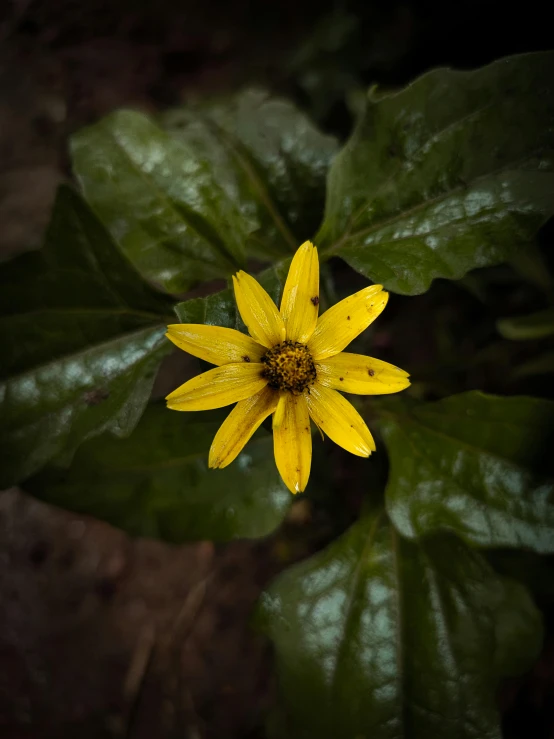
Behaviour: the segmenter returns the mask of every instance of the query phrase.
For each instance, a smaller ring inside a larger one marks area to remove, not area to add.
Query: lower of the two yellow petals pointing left
[[[170,393],[167,407],[174,411],[207,411],[244,400],[267,385],[263,370],[263,364],[253,362],[215,367]]]

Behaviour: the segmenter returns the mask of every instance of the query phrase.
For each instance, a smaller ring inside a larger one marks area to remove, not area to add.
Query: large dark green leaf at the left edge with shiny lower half
[[[0,270],[0,487],[94,434],[130,433],[170,308],[60,188],[44,248]]]

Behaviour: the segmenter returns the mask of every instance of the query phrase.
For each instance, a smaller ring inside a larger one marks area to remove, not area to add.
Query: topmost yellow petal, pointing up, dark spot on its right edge
[[[305,344],[314,332],[318,314],[319,259],[315,246],[306,241],[293,257],[281,299],[287,339]]]

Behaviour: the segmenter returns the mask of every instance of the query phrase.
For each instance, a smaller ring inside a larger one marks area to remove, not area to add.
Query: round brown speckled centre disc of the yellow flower
[[[317,377],[308,347],[297,341],[277,344],[264,354],[261,361],[265,364],[262,376],[275,390],[288,390],[293,395],[300,395]]]

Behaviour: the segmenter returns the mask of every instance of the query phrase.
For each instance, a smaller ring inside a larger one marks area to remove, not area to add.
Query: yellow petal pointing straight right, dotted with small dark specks
[[[398,393],[410,384],[399,367],[363,354],[340,352],[316,362],[317,380],[325,387],[357,395]]]

